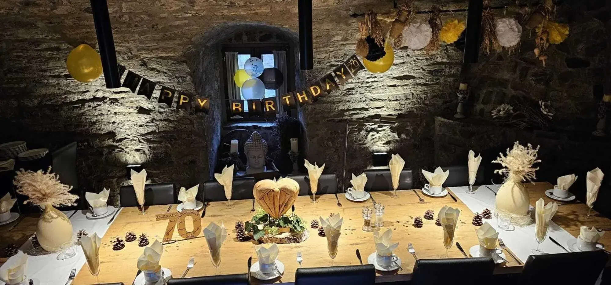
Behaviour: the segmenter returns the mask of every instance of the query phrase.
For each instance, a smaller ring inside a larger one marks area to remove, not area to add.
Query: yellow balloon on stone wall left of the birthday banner
[[[102,74],[100,54],[86,44],[79,45],[70,51],[66,65],[68,66],[68,73],[75,80],[84,83],[97,80]]]

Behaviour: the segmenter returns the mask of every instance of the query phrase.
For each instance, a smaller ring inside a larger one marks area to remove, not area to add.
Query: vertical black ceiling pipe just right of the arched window
[[[312,69],[314,52],[312,47],[312,0],[298,0],[299,4],[299,58],[301,69]]]

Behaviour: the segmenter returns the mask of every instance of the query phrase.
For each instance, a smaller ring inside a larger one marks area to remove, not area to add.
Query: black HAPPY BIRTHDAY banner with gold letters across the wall
[[[364,65],[353,54],[347,61],[342,65],[336,67],[331,73],[323,76],[319,80],[313,83],[307,84],[304,89],[293,91],[280,96],[280,103],[285,108],[297,108],[297,106],[311,104],[318,100],[318,97],[323,97],[326,94],[330,94],[331,91],[338,90],[338,85],[343,85],[346,81],[354,78],[360,70],[365,69]],[[119,64],[119,77],[123,76],[126,68]],[[138,87],[140,86],[140,87]],[[127,87],[131,92],[137,95],[144,95],[150,100],[153,97],[153,92],[157,83],[148,80],[147,78],[138,75],[137,73],[127,70],[125,80],[121,87]],[[177,91],[167,86],[161,85],[161,91],[159,91],[158,103],[165,103],[167,106],[172,108],[172,103],[176,100],[177,109],[185,109],[187,112],[191,111],[192,106],[195,106],[196,112],[204,112],[208,114],[210,111],[210,100],[217,98],[210,98],[207,96],[191,95],[187,92]],[[246,100],[248,104],[248,112],[244,112],[245,100],[232,100],[232,99],[221,99],[229,101],[227,104],[228,116],[233,117],[239,116],[271,116],[278,113],[278,106],[276,97],[268,97],[260,100]]]

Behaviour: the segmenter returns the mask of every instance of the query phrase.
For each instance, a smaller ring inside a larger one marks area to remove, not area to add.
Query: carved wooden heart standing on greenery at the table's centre
[[[299,184],[290,178],[278,181],[261,180],[255,184],[252,194],[270,217],[277,219],[291,209],[299,194]]]

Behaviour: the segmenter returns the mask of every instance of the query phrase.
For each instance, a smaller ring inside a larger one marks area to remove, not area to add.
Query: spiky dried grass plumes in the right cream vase
[[[539,168],[533,167],[535,163],[541,162],[537,159],[537,152],[539,146],[536,149],[530,144],[522,146],[518,141],[513,144],[513,149],[507,149],[507,155],[499,154],[496,160],[492,163],[500,163],[503,166],[502,169],[497,169],[494,172],[509,176],[510,174],[520,179],[521,181],[528,180],[530,182],[536,178],[535,171]]]

